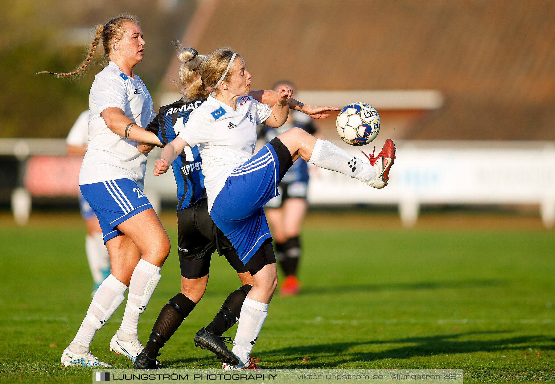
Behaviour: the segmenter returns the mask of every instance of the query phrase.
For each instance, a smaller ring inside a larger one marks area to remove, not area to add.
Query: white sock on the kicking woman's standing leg
[[[268,306],[269,304],[254,301],[249,297],[243,302],[232,352],[244,365],[250,362],[250,352],[268,316]]]

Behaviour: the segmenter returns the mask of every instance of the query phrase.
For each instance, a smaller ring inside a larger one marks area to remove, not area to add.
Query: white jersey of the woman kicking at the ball
[[[231,171],[253,157],[256,125],[270,114],[269,105],[250,96],[237,99],[236,111],[210,96],[189,115],[178,137],[199,146],[209,211]]]

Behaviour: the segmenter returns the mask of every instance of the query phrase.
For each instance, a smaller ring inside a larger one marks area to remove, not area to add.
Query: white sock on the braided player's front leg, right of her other
[[[162,267],[157,267],[143,259],[140,259],[139,264],[135,267],[129,282],[129,295],[120,327],[120,330],[126,334],[137,335],[139,316],[147,308],[150,297],[162,277],[160,276],[161,270]]]

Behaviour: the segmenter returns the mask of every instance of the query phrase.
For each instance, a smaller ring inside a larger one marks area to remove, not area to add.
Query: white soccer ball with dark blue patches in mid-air
[[[337,115],[337,133],[347,144],[365,145],[380,132],[380,116],[366,103],[352,103]]]

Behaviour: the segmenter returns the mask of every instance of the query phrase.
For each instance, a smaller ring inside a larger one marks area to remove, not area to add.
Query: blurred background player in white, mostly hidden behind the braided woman
[[[87,145],[89,144],[88,123],[89,110],[87,109],[75,120],[73,127],[69,130],[68,137],[65,139],[68,156],[83,156],[87,152]],[[104,240],[102,240],[102,229],[100,229],[97,216],[81,194],[80,189],[78,189],[78,195],[81,216],[83,216],[85,225],[87,225],[85,253],[89,261],[90,274],[93,275],[92,296],[94,296],[100,284],[110,274],[110,258]]]

